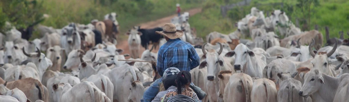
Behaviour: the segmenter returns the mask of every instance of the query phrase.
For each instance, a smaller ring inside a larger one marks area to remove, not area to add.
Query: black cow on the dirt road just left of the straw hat
[[[162,35],[156,34],[155,31],[162,31],[162,28],[153,28],[153,29],[141,29],[138,26],[138,31],[142,33],[141,36],[141,45],[142,47],[148,49],[149,41],[158,44],[160,38],[163,38]],[[156,46],[155,46],[156,47]]]

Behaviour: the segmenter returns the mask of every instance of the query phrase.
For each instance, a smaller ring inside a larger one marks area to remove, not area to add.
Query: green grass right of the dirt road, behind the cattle
[[[242,0],[235,0],[238,2]],[[283,8],[265,4],[284,2]],[[220,11],[221,5],[226,5],[222,0],[206,1],[203,11],[200,14],[190,18],[190,24],[196,28],[199,37],[205,37],[213,31],[228,34],[236,30],[233,26],[238,20],[250,13],[251,7],[257,7],[263,10],[265,15],[267,11],[271,13],[273,9],[281,9],[291,18],[295,24],[296,18],[300,17],[299,10],[295,6],[297,0],[252,0],[249,6],[237,7],[228,11],[227,17],[223,18]],[[346,32],[349,30],[349,1],[348,0],[319,0],[320,6],[315,7],[312,11],[310,30],[315,25],[319,26],[319,31],[324,35],[326,42],[325,26],[329,27],[330,37],[339,38],[339,31],[344,31],[344,38],[348,38]],[[231,4],[231,3],[229,3]],[[258,5],[262,4],[262,5]],[[263,6],[264,4],[264,6]],[[270,15],[270,14],[269,14]],[[302,25],[300,25],[302,27]],[[302,29],[302,28],[301,28]]]

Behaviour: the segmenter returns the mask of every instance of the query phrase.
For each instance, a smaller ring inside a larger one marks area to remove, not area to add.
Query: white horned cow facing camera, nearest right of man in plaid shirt
[[[219,98],[217,93],[219,91],[219,84],[218,84],[218,78],[216,78],[216,76],[218,76],[219,72],[222,70],[231,70],[233,71],[232,73],[235,73],[235,71],[233,70],[233,66],[232,66],[232,59],[228,58],[228,57],[223,57],[224,54],[222,54],[223,51],[223,45],[218,42],[218,44],[220,45],[220,50],[218,52],[206,52],[205,50],[205,45],[207,43],[203,44],[202,46],[202,52],[203,52],[203,57],[206,60],[202,61],[199,69],[201,68],[205,68],[207,66],[207,83],[206,83],[206,87],[208,90],[208,95],[209,100],[210,101],[220,101],[222,100],[222,98]],[[214,88],[213,88],[214,87]],[[210,89],[215,89],[215,91],[210,90]],[[218,100],[214,100],[215,98],[218,98]]]

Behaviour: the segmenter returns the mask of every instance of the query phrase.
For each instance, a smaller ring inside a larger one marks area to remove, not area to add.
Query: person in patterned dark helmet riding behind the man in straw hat
[[[178,74],[179,69],[171,67],[165,70],[163,77],[162,77],[162,83],[165,87],[166,91],[159,92],[153,101],[151,102],[161,102],[161,97],[163,97],[168,90],[170,89],[176,89],[176,77]]]

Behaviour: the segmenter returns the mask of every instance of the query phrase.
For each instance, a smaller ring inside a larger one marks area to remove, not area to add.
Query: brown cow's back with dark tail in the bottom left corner
[[[7,83],[6,87],[8,89],[20,89],[21,91],[23,91],[25,96],[27,96],[27,99],[33,102],[36,100],[43,100],[44,102],[48,102],[49,100],[49,91],[47,90],[47,88],[42,85],[39,80],[36,80],[34,78],[25,78],[11,81]]]

